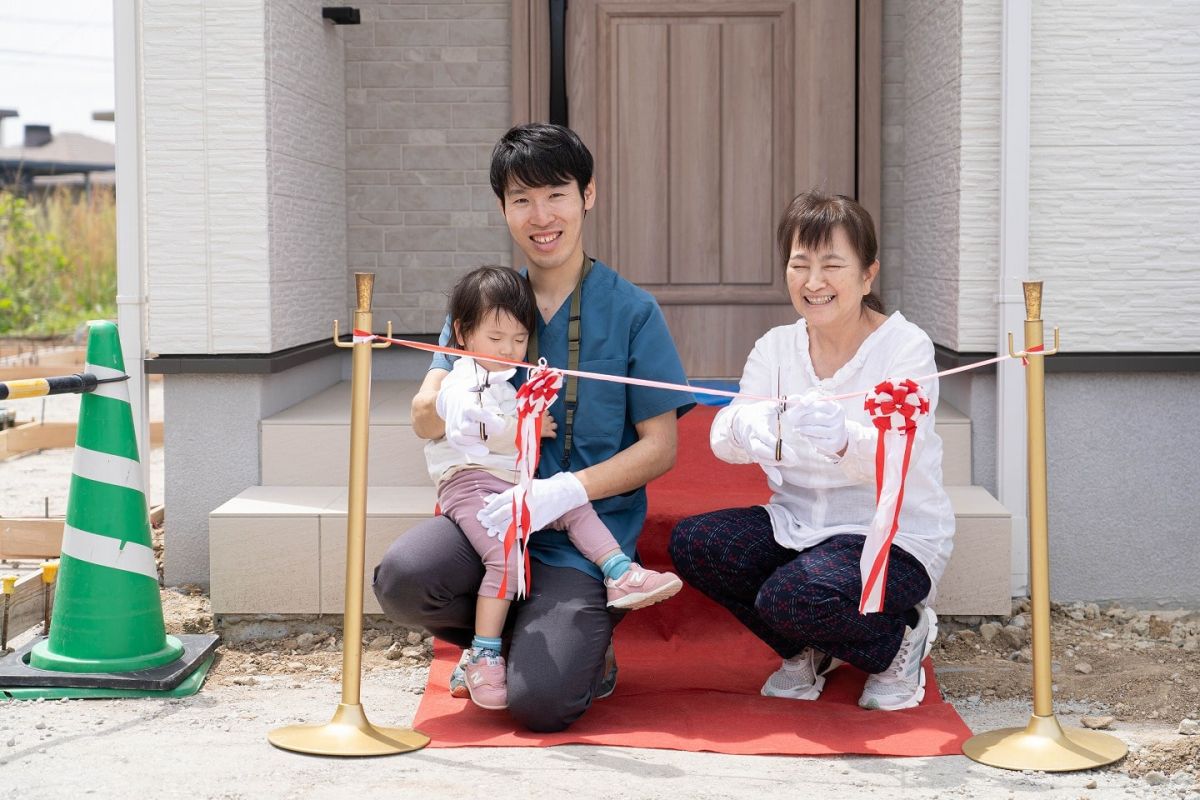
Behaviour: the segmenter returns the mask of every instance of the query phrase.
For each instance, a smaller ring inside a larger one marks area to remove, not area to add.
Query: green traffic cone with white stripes
[[[112,323],[89,324],[85,372],[125,374]],[[50,636],[34,648],[29,663],[118,673],[158,667],[182,654],[162,621],[128,384],[101,384],[80,401]]]

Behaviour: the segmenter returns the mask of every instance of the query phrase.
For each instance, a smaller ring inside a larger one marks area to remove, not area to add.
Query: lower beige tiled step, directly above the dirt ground
[[[977,486],[948,487],[958,518],[942,578],[940,614],[1009,610],[1010,516]],[[216,614],[341,614],[346,577],[347,489],[254,486],[209,515]],[[371,571],[388,546],[433,513],[433,487],[367,491],[364,610],[380,613]]]

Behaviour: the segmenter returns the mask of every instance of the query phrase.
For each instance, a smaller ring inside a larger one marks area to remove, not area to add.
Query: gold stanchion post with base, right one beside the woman
[[[1008,353],[1028,359],[1025,368],[1025,402],[1028,413],[1030,468],[1030,606],[1033,628],[1033,715],[1024,728],[1003,728],[972,736],[962,745],[971,759],[1009,770],[1070,772],[1111,764],[1123,758],[1127,747],[1116,736],[1066,729],[1054,714],[1050,654],[1050,547],[1046,522],[1046,421],[1045,361],[1058,351],[1058,329],[1054,348],[1044,350],[1042,329],[1042,282],[1025,288],[1025,350]]]

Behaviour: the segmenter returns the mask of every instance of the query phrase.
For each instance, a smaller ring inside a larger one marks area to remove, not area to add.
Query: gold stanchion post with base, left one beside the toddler
[[[354,273],[358,308],[354,330],[371,330],[371,294],[374,275]],[[391,337],[391,324],[388,325]],[[367,513],[367,432],[371,414],[371,350],[388,347],[366,337],[352,344],[338,341],[334,321],[334,343],[353,348],[350,374],[350,485],[346,527],[346,607],[342,637],[342,702],[325,724],[295,724],[271,730],[266,739],[276,747],[314,756],[391,756],[420,750],[430,738],[410,728],[380,728],[371,724],[359,702],[362,678],[362,571]]]

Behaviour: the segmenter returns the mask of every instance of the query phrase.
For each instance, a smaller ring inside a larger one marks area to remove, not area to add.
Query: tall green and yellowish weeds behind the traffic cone
[[[0,191],[0,335],[67,333],[116,308],[112,192]]]

